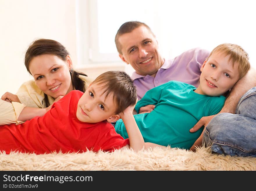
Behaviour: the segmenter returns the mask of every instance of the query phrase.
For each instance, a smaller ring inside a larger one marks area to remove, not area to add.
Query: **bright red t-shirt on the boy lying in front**
[[[83,92],[73,90],[55,102],[43,117],[25,123],[0,126],[0,150],[34,152],[113,151],[129,144],[106,121],[84,123],[77,119],[77,103]]]

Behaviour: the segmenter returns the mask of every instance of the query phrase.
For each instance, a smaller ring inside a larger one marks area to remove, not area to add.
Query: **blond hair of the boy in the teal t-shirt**
[[[230,44],[230,43],[223,43],[219,46],[215,47],[209,57],[214,52],[222,52],[226,55],[230,55],[228,61],[232,61],[232,66],[234,67],[235,63],[238,63],[238,72],[239,72],[239,79],[244,77],[244,75],[248,72],[250,69],[250,62],[248,54],[243,48],[237,44]],[[209,58],[207,57],[207,59]]]

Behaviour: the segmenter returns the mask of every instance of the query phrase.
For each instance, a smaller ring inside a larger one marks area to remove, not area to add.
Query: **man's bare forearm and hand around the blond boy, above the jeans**
[[[251,68],[248,73],[241,78],[235,86],[232,88],[229,96],[227,97],[223,108],[219,113],[235,113],[237,104],[240,100],[240,98],[245,94],[248,90],[256,86],[256,70],[255,68]],[[202,126],[207,126],[208,123],[211,121],[211,119],[216,116],[216,115],[211,115],[211,116],[205,116],[202,117],[195,125],[193,128],[191,128],[189,131],[190,132],[195,132],[199,130]],[[193,146],[190,148],[190,150],[195,151],[196,146],[201,146],[202,145],[202,138],[203,138],[203,133],[205,130],[203,130],[202,134],[200,137],[195,141]]]

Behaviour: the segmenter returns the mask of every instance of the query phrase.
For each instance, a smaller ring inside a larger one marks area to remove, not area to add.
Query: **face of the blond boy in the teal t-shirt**
[[[232,66],[229,55],[214,52],[201,67],[200,85],[196,93],[209,96],[223,95],[239,80],[238,63]]]

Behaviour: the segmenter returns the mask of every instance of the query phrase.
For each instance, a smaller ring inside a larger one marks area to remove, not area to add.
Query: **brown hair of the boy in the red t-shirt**
[[[117,109],[115,114],[123,112],[128,106],[135,105],[137,100],[136,87],[131,77],[123,71],[108,71],[100,74],[92,84],[104,84],[102,88],[106,97],[113,92],[113,100]]]

